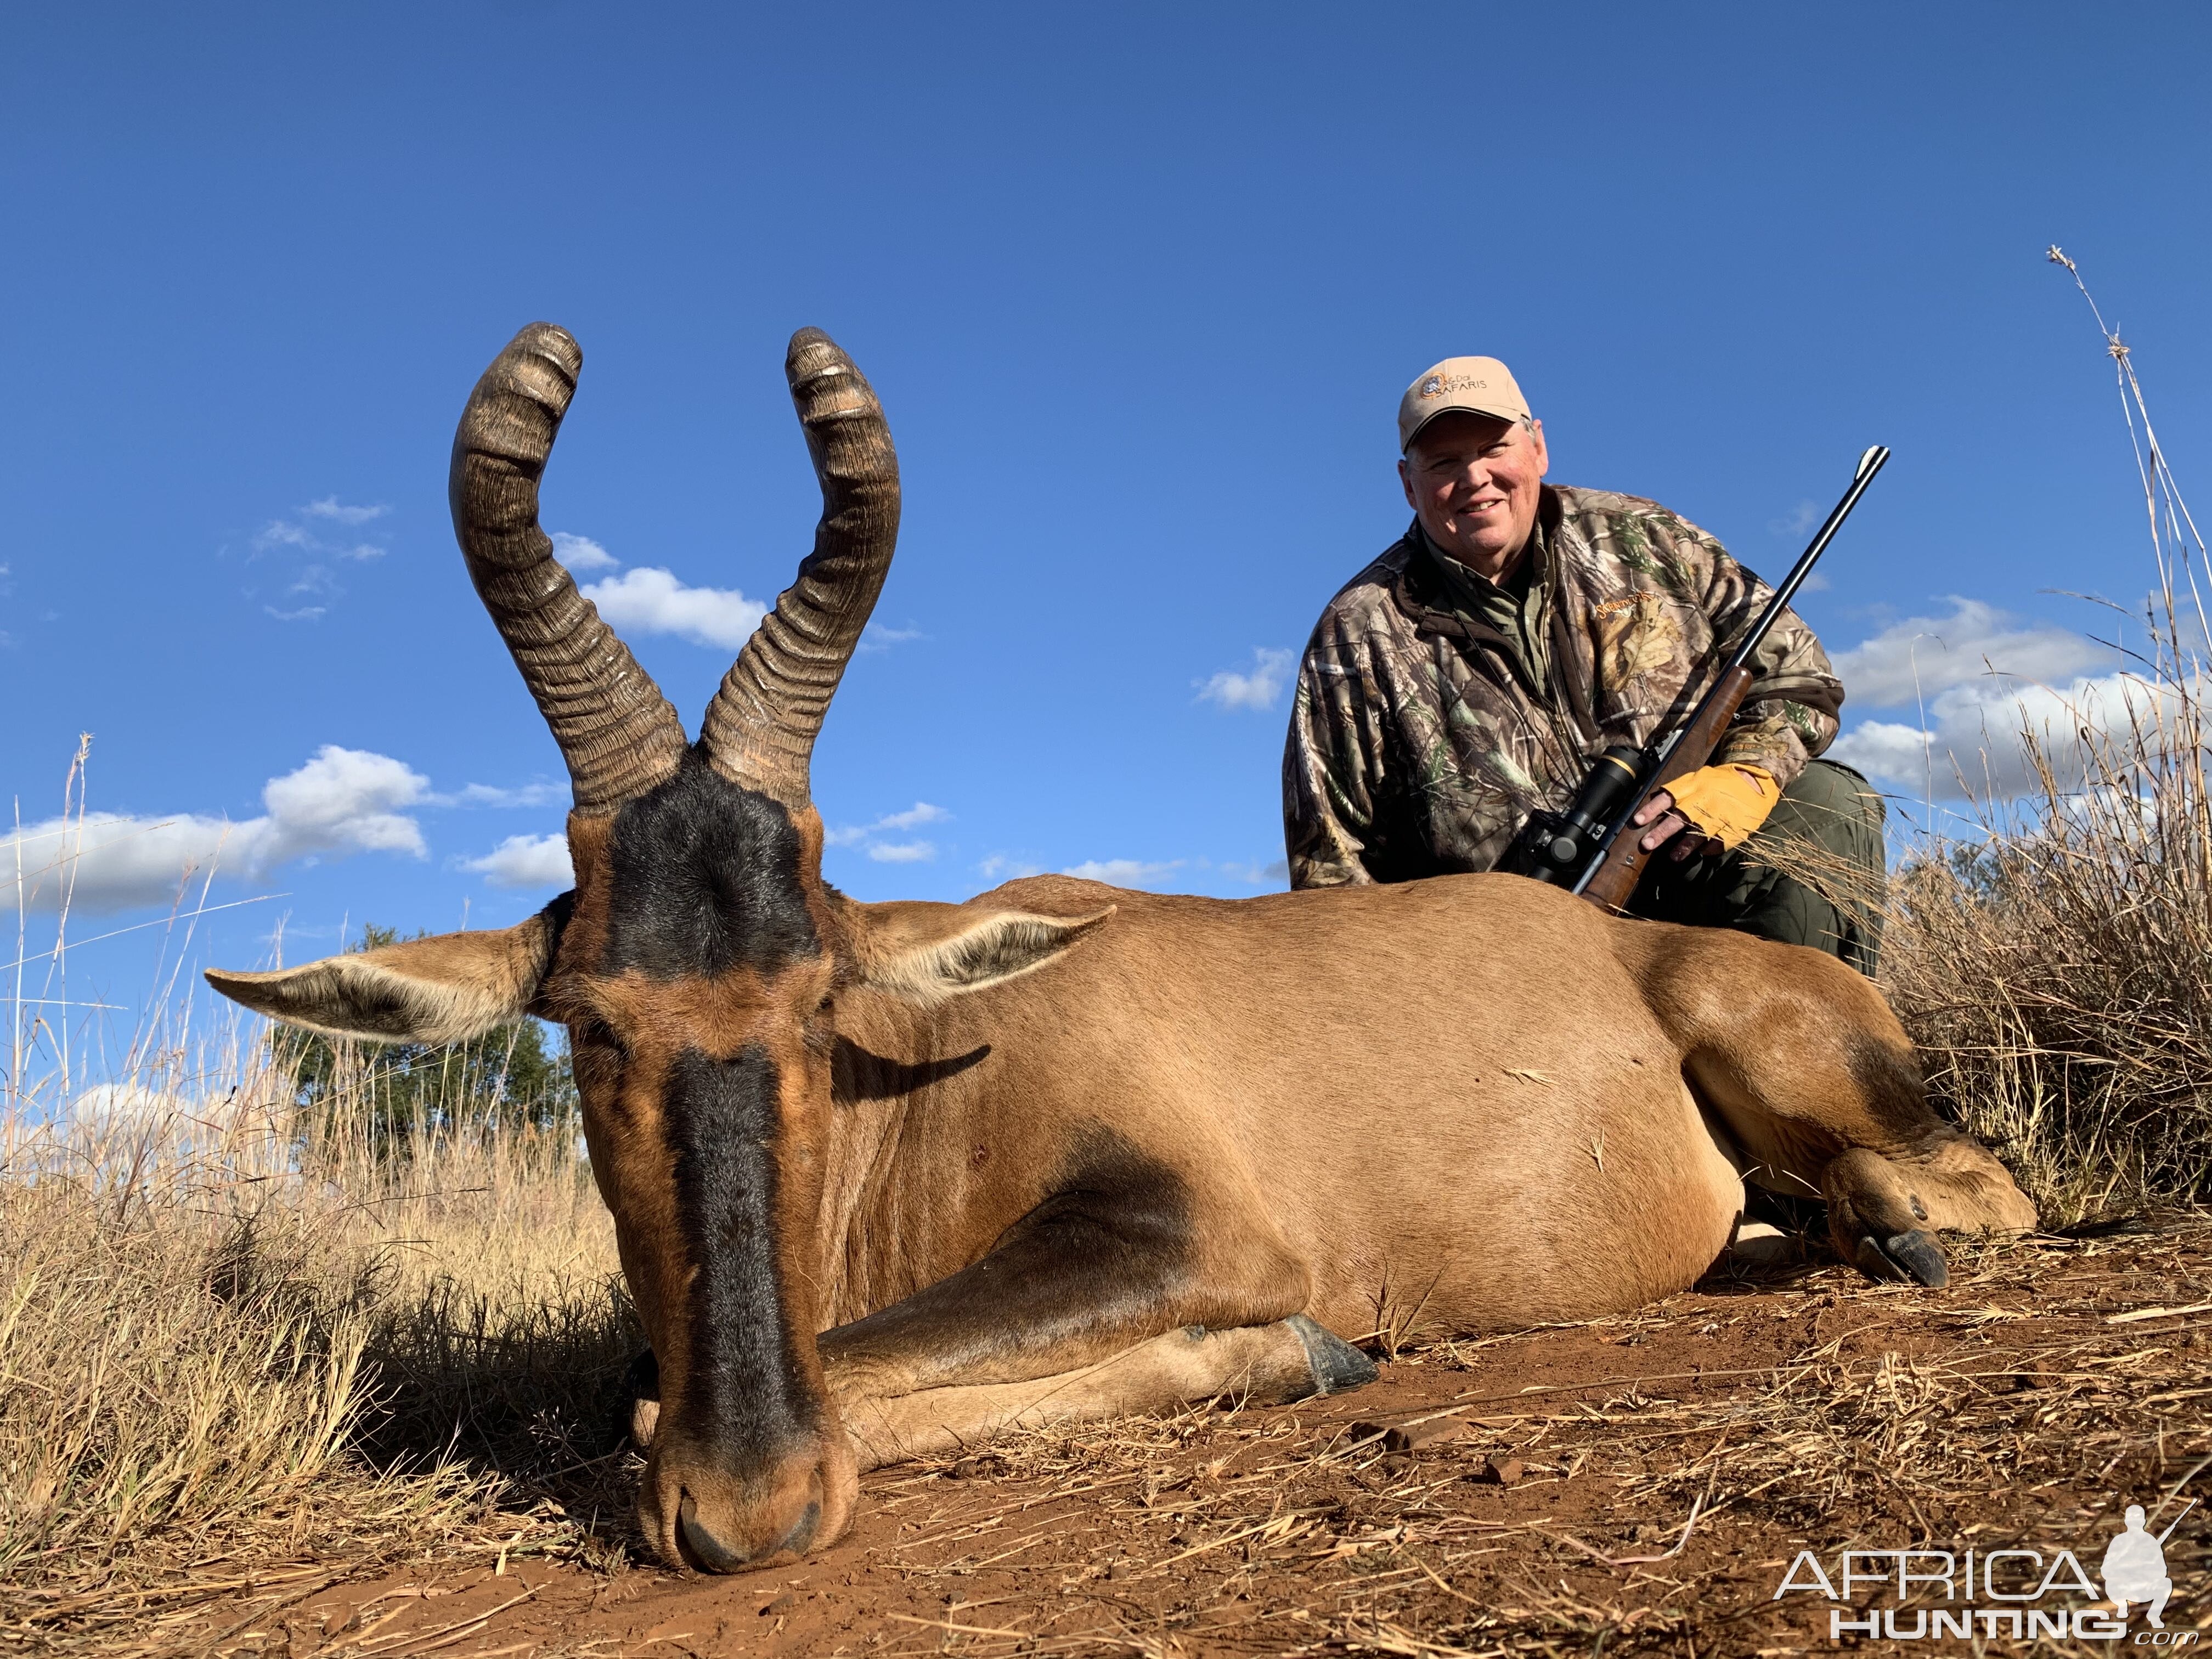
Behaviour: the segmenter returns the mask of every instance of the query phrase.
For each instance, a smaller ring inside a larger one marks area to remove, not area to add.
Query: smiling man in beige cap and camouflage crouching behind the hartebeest
[[[1770,588],[1639,495],[1546,484],[1544,422],[1498,358],[1438,363],[1398,405],[1413,509],[1329,599],[1283,752],[1292,887],[1493,869],[1608,743],[1690,717]],[[1794,613],[1712,765],[1637,814],[1668,847],[1637,916],[1809,945],[1871,975],[1882,799],[1834,761],[1843,681]]]

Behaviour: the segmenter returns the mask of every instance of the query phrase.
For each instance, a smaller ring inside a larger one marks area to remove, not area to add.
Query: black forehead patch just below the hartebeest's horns
[[[686,752],[615,814],[602,971],[684,980],[818,956],[799,860],[787,807]]]

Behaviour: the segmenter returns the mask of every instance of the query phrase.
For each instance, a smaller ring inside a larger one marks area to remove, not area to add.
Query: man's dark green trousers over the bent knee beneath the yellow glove
[[[1882,796],[1858,772],[1812,761],[1734,852],[1677,865],[1661,847],[1628,909],[1809,945],[1871,980],[1889,885],[1882,818]]]

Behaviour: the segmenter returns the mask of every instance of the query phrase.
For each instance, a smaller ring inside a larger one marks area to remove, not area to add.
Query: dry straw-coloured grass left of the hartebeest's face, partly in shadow
[[[573,1133],[372,1150],[307,1135],[265,1044],[181,1053],[0,1119],[0,1644],[270,1564],[619,1555],[588,1517],[641,1343]]]

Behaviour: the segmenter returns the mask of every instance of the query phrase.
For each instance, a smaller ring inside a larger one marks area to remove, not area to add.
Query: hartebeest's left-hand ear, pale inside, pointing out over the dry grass
[[[325,1037],[467,1042],[529,1011],[568,902],[562,894],[518,927],[440,933],[274,973],[208,969],[208,984],[254,1013]]]

